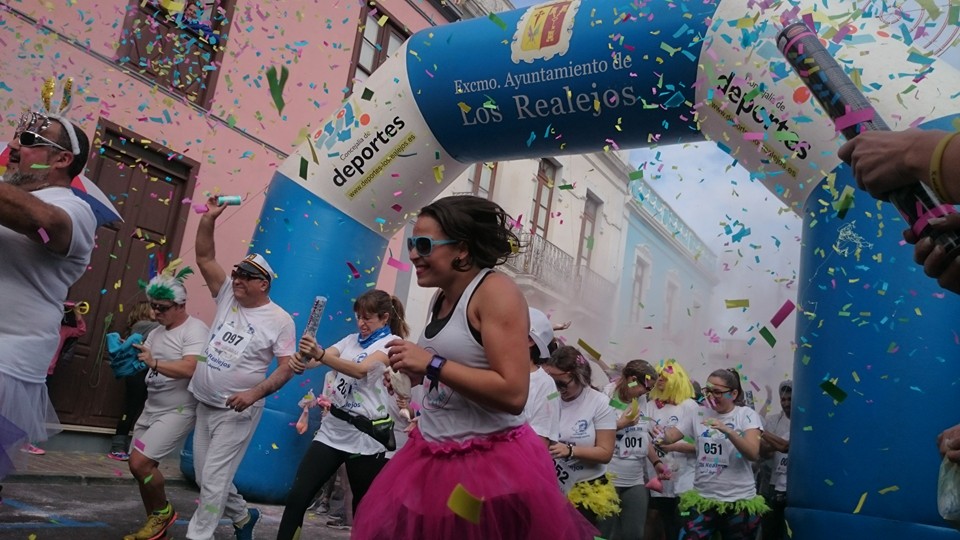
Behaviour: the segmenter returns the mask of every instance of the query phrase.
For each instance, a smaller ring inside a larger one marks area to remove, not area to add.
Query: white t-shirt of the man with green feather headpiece
[[[150,349],[150,353],[157,362],[171,362],[181,360],[185,356],[202,356],[209,339],[210,329],[207,325],[200,319],[187,317],[187,320],[173,330],[167,330],[162,326],[155,328],[147,336],[147,341],[143,345]],[[189,377],[173,379],[150,368],[146,381],[145,411],[162,412],[197,408],[197,399],[187,389],[190,385]]]

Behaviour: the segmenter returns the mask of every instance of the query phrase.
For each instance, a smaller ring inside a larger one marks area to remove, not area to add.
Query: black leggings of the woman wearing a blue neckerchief
[[[382,453],[362,456],[331,448],[321,442],[310,443],[310,448],[300,462],[297,477],[287,495],[287,506],[283,509],[283,517],[280,519],[277,540],[288,540],[294,537],[297,530],[303,526],[303,515],[310,507],[313,498],[344,463],[347,464],[347,478],[350,480],[350,490],[353,492],[353,511],[356,512],[363,495],[370,489],[370,484],[373,483],[380,469],[387,464],[387,459]]]

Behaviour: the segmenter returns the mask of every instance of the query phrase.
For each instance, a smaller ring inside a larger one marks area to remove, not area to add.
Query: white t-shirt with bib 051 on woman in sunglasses
[[[727,414],[718,414],[704,407],[702,419],[708,418],[716,418],[741,433],[748,429],[763,429],[760,415],[749,407],[737,406]],[[701,421],[695,432],[684,435],[697,440],[697,472],[693,484],[700,495],[724,502],[757,495],[750,461],[740,454],[725,434],[706,427]]]

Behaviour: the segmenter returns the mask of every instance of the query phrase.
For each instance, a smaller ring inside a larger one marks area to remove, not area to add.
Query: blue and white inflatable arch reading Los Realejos
[[[788,20],[816,29],[894,128],[949,122],[938,89],[960,78],[879,13],[829,4],[555,0],[415,34],[274,175],[253,240],[284,276],[273,298],[302,314],[329,297],[320,342],[354,331],[343,314],[388,239],[471,163],[716,141],[806,219],[793,538],[952,536],[934,443],[960,420],[940,412],[960,373],[955,299],[898,245],[892,207],[854,189],[837,211],[851,185],[838,136],[774,39]],[[289,429],[296,402],[322,384],[310,376],[267,400],[236,478],[251,497],[285,498],[309,443]]]

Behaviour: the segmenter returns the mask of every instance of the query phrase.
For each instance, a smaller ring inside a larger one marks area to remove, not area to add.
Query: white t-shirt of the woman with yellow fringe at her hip
[[[591,447],[597,443],[597,430],[617,429],[617,414],[610,398],[593,388],[584,388],[570,401],[560,400],[560,442]],[[555,459],[560,488],[569,492],[573,484],[600,478],[607,471],[603,463],[579,459]]]

